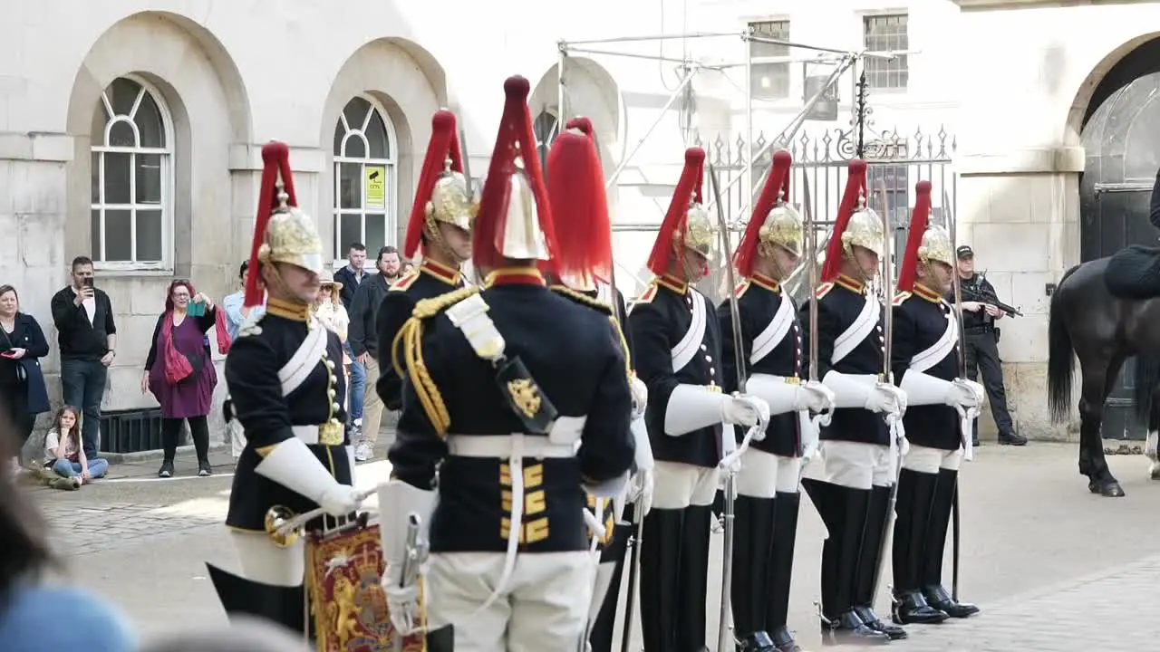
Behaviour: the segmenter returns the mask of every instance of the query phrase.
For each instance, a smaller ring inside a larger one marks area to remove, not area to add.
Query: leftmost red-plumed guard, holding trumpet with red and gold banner
[[[245,305],[261,304],[264,288],[266,314],[242,325],[225,363],[233,414],[246,430],[226,515],[241,577],[209,570],[227,613],[304,631],[303,541],[274,530],[319,506],[350,514],[360,499],[343,428],[342,346],[310,313],[322,244],[296,208],[285,144],[263,146],[262,161]]]

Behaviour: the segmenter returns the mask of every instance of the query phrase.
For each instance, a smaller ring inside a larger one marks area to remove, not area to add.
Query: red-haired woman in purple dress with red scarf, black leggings
[[[152,391],[161,404],[161,445],[165,461],[159,478],[173,477],[173,457],[177,452],[181,422],[189,421],[189,432],[197,451],[197,474],[210,476],[210,430],[205,415],[210,413],[217,370],[210,356],[210,328],[216,328],[218,348],[226,353],[230,336],[225,319],[217,319],[217,306],[205,295],[194,290],[189,281],[169,284],[165,312],[153,329],[153,343],[145,360],[142,393]]]

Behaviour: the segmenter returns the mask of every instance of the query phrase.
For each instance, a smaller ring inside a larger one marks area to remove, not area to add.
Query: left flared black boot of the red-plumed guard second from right
[[[870,492],[813,479],[805,479],[802,485],[828,533],[821,545],[822,643],[890,643],[886,635],[868,628],[854,613],[854,582],[850,578],[857,570],[858,543]]]

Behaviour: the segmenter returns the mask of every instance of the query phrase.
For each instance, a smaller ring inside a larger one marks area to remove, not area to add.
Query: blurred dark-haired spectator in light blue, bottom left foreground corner
[[[15,452],[16,435],[0,415],[0,455]],[[109,604],[70,586],[49,586],[58,570],[41,515],[0,464],[0,647],[5,652],[77,650],[132,652],[136,636]]]

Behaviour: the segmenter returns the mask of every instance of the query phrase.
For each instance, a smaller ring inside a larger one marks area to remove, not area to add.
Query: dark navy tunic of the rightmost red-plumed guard
[[[893,311],[891,367],[894,382],[901,384],[911,360],[928,350],[947,332],[951,306],[934,291],[916,284],[913,294],[902,292],[894,297]],[[958,377],[958,333],[955,333],[954,341],[955,346],[948,349],[947,355],[923,374],[943,381]],[[949,405],[908,405],[902,426],[906,427],[906,439],[913,444],[956,450],[962,442],[958,412]]]

